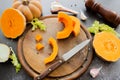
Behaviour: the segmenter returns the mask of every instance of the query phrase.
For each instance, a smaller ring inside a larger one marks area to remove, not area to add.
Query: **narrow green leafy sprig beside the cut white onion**
[[[10,47],[12,54],[9,56],[9,58],[12,60],[12,64],[15,66],[16,72],[19,72],[21,69],[21,64],[18,62],[18,59],[15,55],[15,52]]]

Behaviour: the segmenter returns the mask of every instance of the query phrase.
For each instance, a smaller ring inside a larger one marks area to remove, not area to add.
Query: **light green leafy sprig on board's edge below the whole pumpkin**
[[[46,30],[45,24],[42,21],[40,21],[38,18],[34,18],[31,21],[31,24],[33,25],[32,31],[34,31],[36,28],[39,28],[40,30],[43,30],[43,31]]]

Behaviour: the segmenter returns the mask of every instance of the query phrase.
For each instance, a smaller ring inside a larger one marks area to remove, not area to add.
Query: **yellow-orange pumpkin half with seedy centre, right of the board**
[[[96,54],[106,61],[115,62],[120,58],[120,40],[113,33],[97,33],[93,47]]]

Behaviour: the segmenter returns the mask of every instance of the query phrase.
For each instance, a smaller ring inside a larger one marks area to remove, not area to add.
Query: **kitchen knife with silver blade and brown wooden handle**
[[[65,61],[69,60],[72,56],[74,56],[78,51],[83,49],[88,43],[90,42],[90,39],[85,40],[72,48],[67,53],[63,54],[62,58],[53,63],[48,69],[46,69],[45,72],[41,73],[37,77],[34,78],[34,80],[42,80],[44,79],[49,73],[51,73],[53,70],[55,70],[57,67],[59,67],[61,64],[63,64]]]

